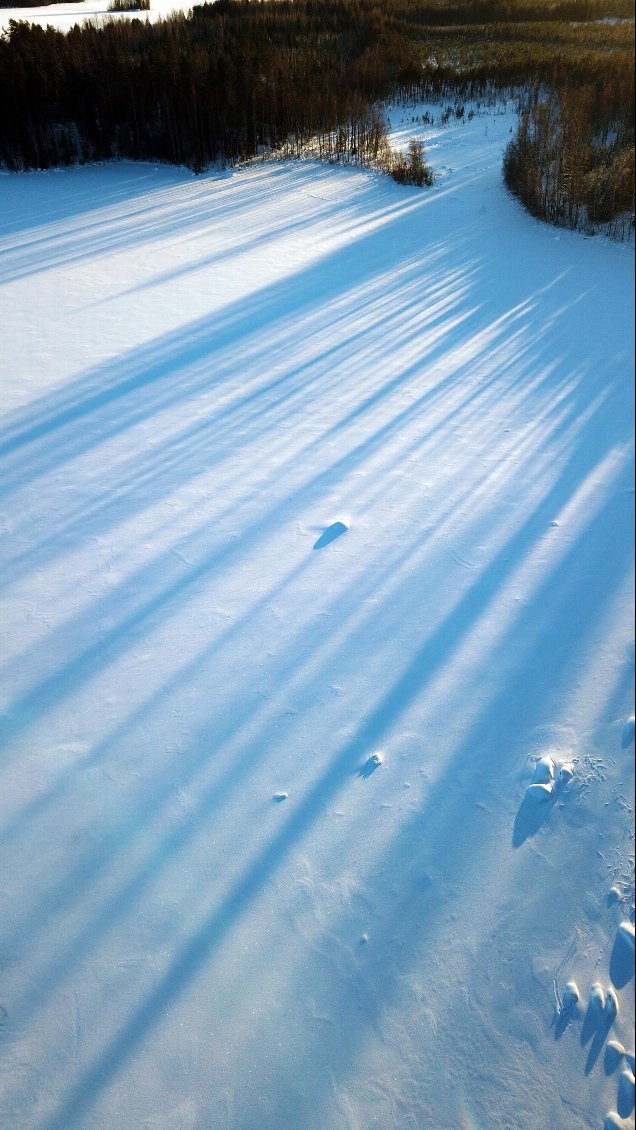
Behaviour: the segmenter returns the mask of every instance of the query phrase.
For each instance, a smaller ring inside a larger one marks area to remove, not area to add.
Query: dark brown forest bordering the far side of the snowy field
[[[0,164],[132,158],[202,172],[312,153],[430,183],[382,103],[513,94],[508,188],[537,216],[625,236],[634,212],[634,0],[218,0],[189,15],[10,21]],[[626,219],[626,217],[628,217]]]

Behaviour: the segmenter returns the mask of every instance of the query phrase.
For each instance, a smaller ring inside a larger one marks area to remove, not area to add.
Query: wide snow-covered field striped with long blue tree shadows
[[[633,250],[509,130],[0,179],[3,1127],[634,1125]]]

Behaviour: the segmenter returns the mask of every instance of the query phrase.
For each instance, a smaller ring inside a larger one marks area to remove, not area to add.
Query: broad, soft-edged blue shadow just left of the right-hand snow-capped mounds
[[[474,828],[470,812],[474,798],[483,794],[483,765],[491,762],[493,753],[496,751],[497,770],[499,773],[504,772],[505,750],[514,750],[515,734],[530,724],[540,725],[542,722],[550,722],[558,714],[560,699],[567,697],[567,672],[572,661],[576,658],[578,649],[584,647],[585,637],[593,641],[596,632],[595,620],[582,625],[581,634],[576,636],[567,631],[580,599],[577,581],[584,583],[593,563],[599,567],[607,566],[604,538],[609,531],[616,529],[616,513],[619,508],[621,508],[620,484],[617,484],[616,495],[602,507],[593,527],[583,529],[580,539],[572,546],[570,553],[559,566],[558,583],[555,585],[555,579],[547,576],[534,594],[528,615],[532,619],[540,612],[542,624],[534,640],[521,649],[521,652],[515,649],[514,661],[509,664],[496,697],[494,701],[488,701],[453,750],[443,776],[427,798],[426,807],[413,817],[410,827],[400,828],[400,836],[392,849],[383,852],[382,876],[394,876],[395,884],[392,898],[391,888],[386,884],[381,888],[382,920],[374,922],[373,930],[373,948],[376,954],[373,962],[373,982],[369,983],[368,977],[365,977],[359,963],[352,960],[348,970],[351,984],[345,985],[340,980],[336,980],[333,985],[325,988],[324,999],[321,1001],[322,1011],[329,1015],[332,1022],[328,1029],[332,1034],[329,1060],[333,1076],[343,1089],[368,1033],[380,1024],[391,1005],[397,1005],[400,1000],[409,971],[435,951],[439,919],[444,910],[447,911],[453,903],[452,877],[461,873],[467,859],[470,859],[471,868],[479,870],[480,858],[493,850],[491,841],[496,841],[498,831],[493,828],[489,833],[483,826]],[[629,568],[628,539],[627,531],[626,538],[617,547],[617,557],[610,567],[608,605],[611,605],[613,584]],[[603,608],[598,608],[595,611],[599,619],[602,619]],[[557,652],[549,646],[546,649],[546,642],[552,631],[560,633],[560,638],[565,641],[565,646]],[[503,653],[506,653],[506,645],[512,644],[516,633],[515,623],[511,625],[507,638],[502,641]],[[541,657],[539,687],[535,673],[538,657]],[[524,687],[529,683],[541,692],[533,703],[529,703],[524,695]],[[401,705],[398,707],[398,713],[401,713]],[[375,737],[377,739],[378,734]],[[460,776],[462,788],[458,789]],[[459,833],[462,827],[473,829],[468,843]],[[427,876],[435,877],[437,883],[432,884],[430,879],[427,881]],[[369,873],[367,881],[373,888],[373,873]],[[366,887],[364,881],[360,886],[363,889]],[[367,901],[371,901],[368,894]],[[356,925],[359,930],[359,910],[356,907],[350,916],[348,915],[332,929],[352,938],[356,935]],[[555,931],[559,929],[559,915],[555,915],[554,929]],[[567,931],[569,929],[572,925],[568,922]],[[565,936],[567,937],[567,932]],[[324,972],[321,975],[324,982]],[[307,983],[312,983],[311,972],[304,971],[303,976],[304,979],[306,976]],[[347,1012],[350,1009],[359,1015],[357,1001],[360,997],[365,1005],[364,1020],[358,1025],[348,1025]],[[451,1010],[450,1002],[448,1010]],[[559,1018],[557,1037],[563,1035],[570,1018],[567,1014],[564,1014],[563,1019]],[[596,1062],[611,1024],[611,1016],[602,1010],[587,1011],[582,1032],[583,1044],[592,1041],[585,1066],[586,1074]],[[324,1054],[325,1038],[325,1031],[321,1028],[322,1054]],[[459,1034],[454,1029],[452,1038],[453,1042],[459,1040]],[[468,1051],[467,1046],[467,1053]],[[251,1049],[251,1054],[258,1054],[254,1046]],[[280,1081],[288,1067],[287,1054],[294,1058],[294,1071],[304,1080],[303,1087],[306,1088],[306,1080],[312,1075],[308,1061],[313,1054],[319,1054],[319,1044],[307,1049],[307,1059],[304,1062],[291,1049],[286,1049],[280,1061]],[[467,1070],[470,1076],[470,1068]],[[306,1124],[312,1127],[324,1124],[329,1113],[322,1104],[329,1097],[331,1096],[317,1081],[315,1089],[307,1095],[306,1106],[303,1103],[300,1113],[296,1110],[296,1118],[305,1119]],[[279,1124],[289,1124],[288,1103],[289,1096],[281,1094],[279,1105],[269,1123],[271,1127],[277,1124],[277,1119],[282,1120]],[[317,1116],[314,1113],[316,1109],[320,1111]]]

